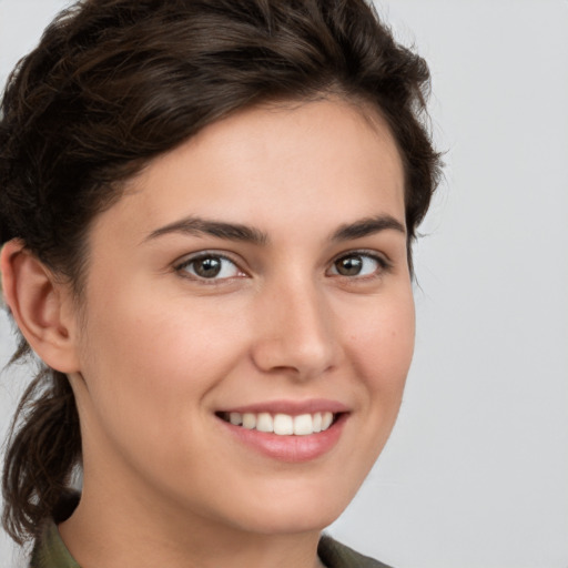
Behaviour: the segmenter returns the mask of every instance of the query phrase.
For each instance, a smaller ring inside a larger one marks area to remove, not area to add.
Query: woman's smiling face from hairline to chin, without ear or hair
[[[385,124],[337,101],[242,111],[133,180],[90,234],[85,491],[248,532],[333,521],[410,364],[403,185]]]

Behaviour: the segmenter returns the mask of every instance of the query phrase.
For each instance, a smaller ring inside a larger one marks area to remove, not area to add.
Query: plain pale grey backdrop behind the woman
[[[2,83],[65,3],[0,0]],[[399,419],[329,530],[397,568],[567,568],[568,1],[377,8],[430,64],[446,176],[415,252]],[[2,314],[0,365],[12,348]],[[2,432],[24,377],[0,376]]]

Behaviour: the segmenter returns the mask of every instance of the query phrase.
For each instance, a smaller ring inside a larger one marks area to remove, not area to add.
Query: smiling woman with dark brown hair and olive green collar
[[[363,0],[48,28],[0,126],[14,359],[43,363],[3,477],[31,566],[382,566],[321,531],[412,358],[427,85]]]

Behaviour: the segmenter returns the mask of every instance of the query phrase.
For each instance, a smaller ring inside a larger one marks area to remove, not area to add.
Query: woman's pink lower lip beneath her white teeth
[[[219,419],[241,443],[256,452],[281,462],[303,463],[316,459],[335,447],[347,417],[348,415],[343,413],[326,430],[307,436],[278,436],[277,434],[243,428]]]

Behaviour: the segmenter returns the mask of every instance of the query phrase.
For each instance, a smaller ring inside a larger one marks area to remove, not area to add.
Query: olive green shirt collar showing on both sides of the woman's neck
[[[388,568],[325,535],[320,540],[317,554],[327,568]],[[81,568],[61,540],[53,521],[45,525],[36,542],[30,568]]]

